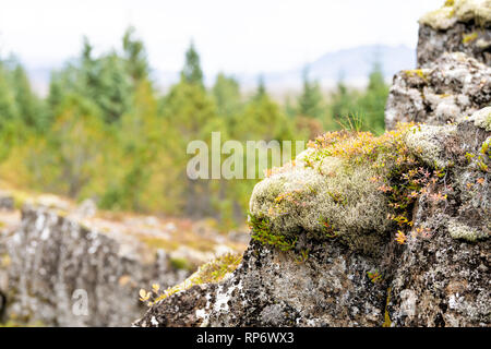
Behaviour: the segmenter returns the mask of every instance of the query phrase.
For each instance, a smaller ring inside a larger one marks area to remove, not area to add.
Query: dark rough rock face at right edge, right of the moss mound
[[[491,130],[476,125],[484,111],[490,108],[439,142],[440,154],[453,161],[446,176],[452,190],[445,205],[434,200],[444,185],[418,201],[415,227],[432,233],[416,231],[402,255],[390,303],[396,326],[490,326],[491,153],[483,144]]]

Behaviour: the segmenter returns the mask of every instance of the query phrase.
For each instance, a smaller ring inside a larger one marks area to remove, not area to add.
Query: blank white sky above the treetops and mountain
[[[280,71],[360,45],[416,47],[418,19],[443,0],[0,0],[0,52],[29,67],[120,46],[129,24],[151,64],[178,71],[191,38],[206,73]]]

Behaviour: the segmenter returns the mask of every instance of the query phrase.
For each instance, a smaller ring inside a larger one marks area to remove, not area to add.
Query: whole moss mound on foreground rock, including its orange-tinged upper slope
[[[380,188],[395,167],[399,147],[407,151],[403,141],[409,130],[406,125],[381,137],[327,133],[322,145],[255,185],[250,201],[252,237],[289,250],[288,243],[306,234],[376,254],[394,228],[390,200]]]

